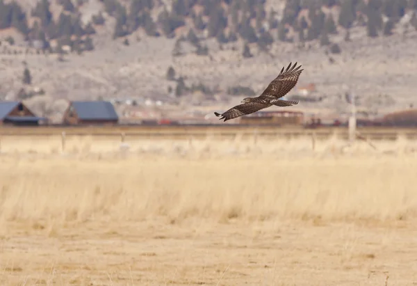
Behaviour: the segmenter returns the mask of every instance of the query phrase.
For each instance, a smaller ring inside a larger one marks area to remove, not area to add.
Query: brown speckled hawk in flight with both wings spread
[[[300,70],[301,65],[296,68],[295,66],[297,63],[293,66],[291,65],[292,63],[288,65],[285,71],[285,67],[282,67],[281,72],[279,72],[278,76],[270,82],[265,90],[263,90],[261,95],[258,97],[246,97],[242,100],[242,104],[236,105],[221,114],[215,112],[215,116],[220,117],[220,120],[224,119],[224,121],[226,121],[239,116],[254,113],[272,105],[292,106],[298,104],[297,101],[293,100],[279,100],[279,98],[286,95],[295,86],[295,84],[297,84],[298,78],[304,70]]]

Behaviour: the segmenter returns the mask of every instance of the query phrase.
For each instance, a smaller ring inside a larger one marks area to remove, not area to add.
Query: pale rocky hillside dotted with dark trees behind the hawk
[[[417,0],[0,0],[0,97],[44,115],[100,97],[224,108],[298,61],[299,85],[318,90],[302,108],[343,113],[346,92],[368,112],[405,108],[417,104],[416,11]]]

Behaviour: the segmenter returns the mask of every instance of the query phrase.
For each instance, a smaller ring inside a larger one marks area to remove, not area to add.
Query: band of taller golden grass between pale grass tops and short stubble
[[[0,221],[395,219],[417,207],[415,158],[11,159]]]

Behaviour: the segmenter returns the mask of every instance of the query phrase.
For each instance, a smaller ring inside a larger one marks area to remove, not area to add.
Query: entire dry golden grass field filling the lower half
[[[0,285],[415,285],[417,144],[2,136]]]

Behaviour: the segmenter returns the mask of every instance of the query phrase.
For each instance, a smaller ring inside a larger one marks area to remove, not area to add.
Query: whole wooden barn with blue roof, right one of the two
[[[115,125],[119,117],[111,102],[70,102],[64,113],[66,125]]]

